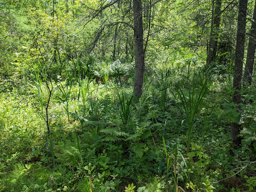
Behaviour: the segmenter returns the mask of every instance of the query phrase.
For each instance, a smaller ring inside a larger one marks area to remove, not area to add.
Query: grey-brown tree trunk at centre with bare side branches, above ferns
[[[138,102],[142,95],[144,76],[144,50],[143,50],[143,24],[142,24],[142,3],[141,0],[133,0],[134,14],[134,53],[135,53],[135,74],[133,85],[133,101]]]

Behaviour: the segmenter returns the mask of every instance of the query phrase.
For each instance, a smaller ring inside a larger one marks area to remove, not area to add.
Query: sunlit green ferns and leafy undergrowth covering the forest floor
[[[21,78],[0,96],[0,190],[254,190],[255,87],[245,90],[236,147],[230,73],[203,63],[147,65],[136,104],[125,63],[103,63],[95,78],[58,76],[52,91],[36,75]]]

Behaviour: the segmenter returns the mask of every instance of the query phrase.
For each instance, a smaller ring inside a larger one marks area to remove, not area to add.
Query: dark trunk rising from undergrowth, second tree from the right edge
[[[235,47],[235,61],[234,61],[234,74],[233,74],[233,89],[232,101],[237,106],[237,112],[241,110],[241,79],[242,79],[242,65],[243,65],[243,53],[244,53],[244,41],[245,41],[245,25],[246,25],[246,9],[247,0],[239,0],[238,7],[238,19],[237,19],[237,33],[236,33],[236,47]],[[241,124],[239,122],[232,122],[231,125],[231,137],[235,144],[239,144],[241,138],[238,137],[240,133]]]

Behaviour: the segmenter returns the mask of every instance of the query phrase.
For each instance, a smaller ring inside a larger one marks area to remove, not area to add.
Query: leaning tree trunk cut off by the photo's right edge
[[[243,73],[243,84],[244,85],[246,83],[249,83],[249,84],[251,83],[255,48],[256,48],[256,0],[255,0],[253,17],[252,17],[251,27],[250,27],[246,64],[245,64],[244,73]]]

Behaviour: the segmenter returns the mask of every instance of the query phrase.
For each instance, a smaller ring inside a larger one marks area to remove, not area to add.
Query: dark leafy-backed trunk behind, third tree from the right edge
[[[219,29],[219,23],[220,23],[220,8],[221,8],[221,0],[215,1],[215,9],[214,9],[214,1],[212,2],[210,39],[209,39],[208,54],[206,58],[207,65],[209,65],[216,57],[217,36],[218,36],[218,29]]]

